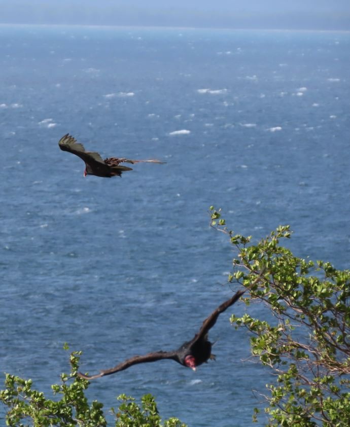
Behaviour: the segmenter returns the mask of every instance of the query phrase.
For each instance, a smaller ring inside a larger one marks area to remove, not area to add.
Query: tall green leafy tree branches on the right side
[[[281,245],[291,237],[280,226],[257,244],[251,236],[226,228],[221,211],[211,206],[211,225],[226,233],[237,251],[230,282],[248,287],[252,274],[264,269],[250,291],[272,316],[231,317],[235,327],[251,333],[251,348],[276,374],[265,396],[268,425],[348,426],[350,419],[350,271],[330,263],[295,257]],[[266,313],[267,314],[267,313]],[[267,322],[266,318],[272,318]],[[254,419],[259,412],[255,410]]]

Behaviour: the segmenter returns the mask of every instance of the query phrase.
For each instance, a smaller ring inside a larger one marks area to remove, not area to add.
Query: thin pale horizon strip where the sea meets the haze
[[[110,25],[110,24],[48,24],[0,22],[0,26],[42,26],[42,27],[93,27],[93,28],[137,28],[137,29],[182,29],[182,30],[230,30],[230,31],[295,31],[295,32],[350,32],[350,29],[316,29],[316,28],[256,28],[256,27],[209,27],[209,26],[164,26],[164,25]]]

